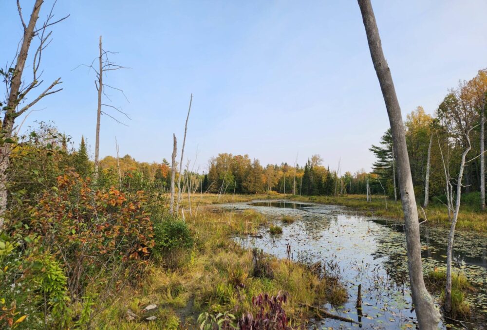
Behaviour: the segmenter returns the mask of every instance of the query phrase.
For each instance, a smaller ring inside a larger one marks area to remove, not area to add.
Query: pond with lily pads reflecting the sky
[[[260,248],[265,253],[286,258],[287,246],[294,260],[322,261],[332,275],[346,286],[349,299],[343,306],[323,305],[329,312],[358,321],[357,287],[361,284],[362,329],[415,329],[411,290],[407,273],[404,225],[394,220],[364,217],[335,205],[289,201],[254,201],[223,204],[222,207],[253,209],[282,227],[282,234],[271,235],[262,227],[257,236],[234,239],[244,247]],[[290,224],[283,216],[293,217]],[[421,226],[425,273],[446,264],[448,230]],[[455,234],[454,271],[462,272],[475,287],[469,294],[474,318],[463,323],[444,319],[443,329],[487,329],[487,236],[481,233]],[[438,298],[436,296],[436,298]],[[313,320],[311,329],[352,329],[358,324],[333,319]]]

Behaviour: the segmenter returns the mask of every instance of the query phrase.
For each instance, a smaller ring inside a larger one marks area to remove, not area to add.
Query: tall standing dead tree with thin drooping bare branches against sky
[[[104,77],[106,77],[107,73],[109,71],[116,71],[120,69],[131,69],[129,67],[124,67],[121,65],[118,65],[116,62],[112,62],[109,58],[109,55],[116,55],[118,53],[116,52],[111,52],[104,50],[102,47],[102,36],[100,36],[99,42],[98,42],[98,56],[94,58],[92,63],[90,65],[87,64],[81,64],[81,66],[88,67],[89,70],[93,70],[96,73],[96,79],[94,81],[94,85],[96,87],[96,92],[98,93],[98,106],[96,110],[96,131],[95,131],[95,147],[94,147],[94,177],[95,179],[98,178],[98,167],[99,167],[99,155],[100,155],[100,124],[101,124],[101,116],[102,115],[107,115],[108,117],[112,118],[114,121],[116,121],[119,124],[125,125],[122,121],[116,119],[114,116],[111,114],[107,113],[103,109],[106,108],[111,108],[116,110],[117,112],[121,113],[123,116],[125,116],[127,119],[130,120],[129,115],[122,110],[120,107],[115,107],[112,106],[111,104],[104,103],[103,101],[103,96],[108,100],[108,102],[111,102],[110,95],[107,94],[106,89],[111,89],[117,92],[120,92],[124,98],[129,102],[129,99],[125,95],[124,91],[117,88],[113,87],[111,85],[108,85],[104,81]],[[98,66],[95,67],[94,63],[98,62]],[[78,66],[79,67],[79,66]],[[130,103],[130,102],[129,102]]]

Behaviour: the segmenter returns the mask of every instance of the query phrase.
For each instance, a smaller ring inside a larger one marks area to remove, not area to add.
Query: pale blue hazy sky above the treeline
[[[21,0],[28,19],[33,0]],[[41,18],[52,0],[45,0]],[[403,116],[421,105],[432,113],[459,79],[487,67],[487,1],[373,1],[382,45]],[[0,0],[0,64],[21,36],[15,0]],[[58,0],[43,54],[44,84],[64,90],[37,104],[26,121],[52,120],[94,153],[97,92],[86,68],[104,49],[131,67],[112,72],[112,105],[129,127],[102,117],[100,155],[138,161],[170,159],[172,133],[181,145],[189,94],[185,158],[196,168],[220,152],[267,163],[303,165],[319,153],[331,168],[370,169],[368,148],[389,127],[355,0]],[[30,63],[30,61],[28,62]],[[29,67],[29,70],[31,68]],[[109,113],[117,115],[115,112]],[[120,116],[118,118],[122,119]],[[180,149],[179,149],[180,150]],[[179,153],[179,152],[178,152]],[[186,157],[187,156],[187,157]],[[178,156],[179,157],[179,156]]]

